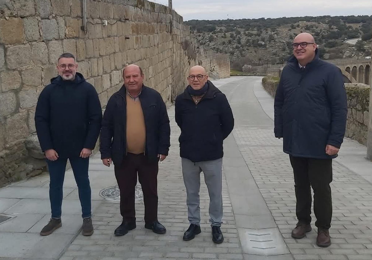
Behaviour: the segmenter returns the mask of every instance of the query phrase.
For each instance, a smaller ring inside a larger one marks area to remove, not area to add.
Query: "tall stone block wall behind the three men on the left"
[[[144,83],[167,104],[186,87],[190,66],[209,64],[216,77],[230,76],[228,56],[196,53],[189,27],[166,6],[87,0],[85,32],[82,17],[82,0],[1,1],[0,186],[45,170],[33,118],[63,52],[76,55],[78,71],[96,88],[102,108],[122,86],[125,64],[140,65]]]

